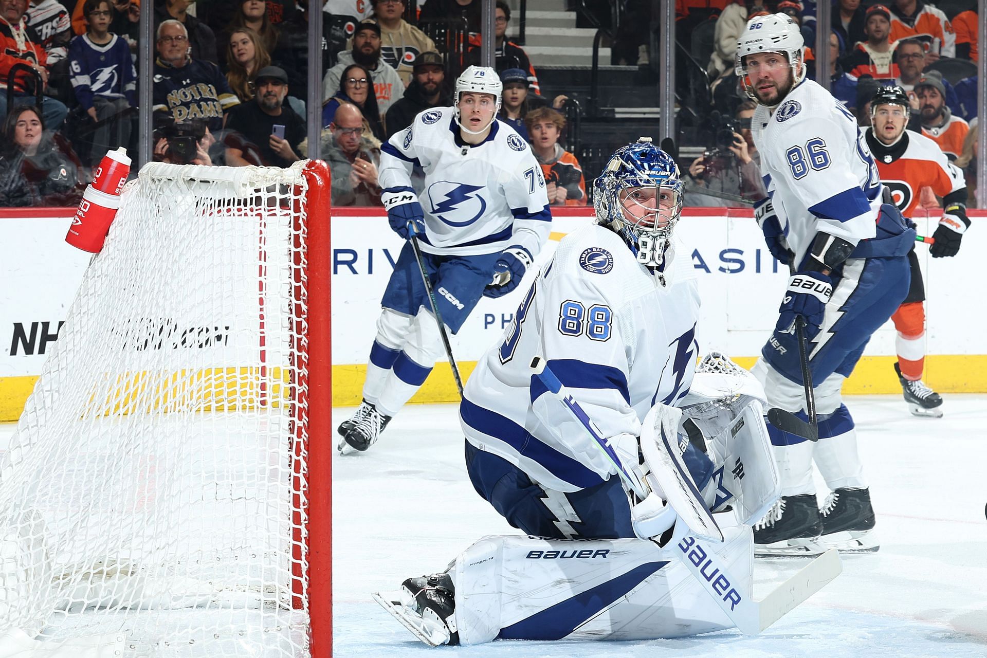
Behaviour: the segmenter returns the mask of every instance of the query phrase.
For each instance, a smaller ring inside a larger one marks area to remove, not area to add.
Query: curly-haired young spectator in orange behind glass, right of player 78
[[[586,183],[575,156],[559,144],[566,117],[558,110],[539,108],[524,117],[531,150],[542,166],[545,191],[552,205],[586,205]]]

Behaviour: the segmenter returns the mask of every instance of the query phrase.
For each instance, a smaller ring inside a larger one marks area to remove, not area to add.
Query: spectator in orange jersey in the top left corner
[[[27,93],[28,85],[37,83],[35,76],[18,71],[11,81],[10,69],[16,64],[27,64],[38,74],[42,89],[48,84],[48,70],[45,68],[47,55],[34,30],[28,27],[25,13],[28,0],[2,0],[0,2],[0,116],[7,115],[7,86],[14,86],[14,105],[36,103],[34,95]],[[41,114],[44,125],[57,130],[68,109],[60,101],[50,96],[41,98]]]

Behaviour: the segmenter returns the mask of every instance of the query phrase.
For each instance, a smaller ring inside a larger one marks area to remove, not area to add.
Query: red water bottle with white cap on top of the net
[[[119,193],[130,174],[130,158],[120,147],[103,157],[96,168],[96,178],[86,187],[82,201],[72,217],[65,242],[84,252],[99,254],[103,250],[110,225],[119,207]]]

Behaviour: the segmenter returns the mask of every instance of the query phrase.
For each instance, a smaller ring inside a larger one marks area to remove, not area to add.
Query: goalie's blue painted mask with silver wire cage
[[[638,262],[660,267],[682,212],[684,184],[672,157],[642,137],[617,149],[593,188],[596,223],[623,238]]]

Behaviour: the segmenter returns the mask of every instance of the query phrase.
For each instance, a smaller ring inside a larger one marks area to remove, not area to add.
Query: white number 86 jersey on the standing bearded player
[[[873,238],[881,184],[857,119],[803,80],[778,108],[754,110],[761,174],[796,262],[817,232],[851,244]]]

